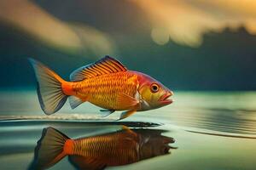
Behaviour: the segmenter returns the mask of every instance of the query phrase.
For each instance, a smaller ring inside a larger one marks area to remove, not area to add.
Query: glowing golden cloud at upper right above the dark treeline
[[[198,47],[209,31],[244,26],[256,35],[256,1],[253,0],[131,0],[152,23],[151,37],[162,45],[171,39]]]

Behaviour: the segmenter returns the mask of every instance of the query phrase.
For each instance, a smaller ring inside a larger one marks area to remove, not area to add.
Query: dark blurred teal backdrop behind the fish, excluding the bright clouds
[[[200,47],[176,42],[158,45],[150,37],[146,16],[132,3],[114,1],[37,1],[38,6],[60,20],[86,23],[108,32],[117,57],[130,70],[144,72],[173,90],[256,90],[256,37],[241,26],[219,33],[208,32]],[[33,24],[33,23],[31,23]],[[32,57],[48,65],[61,77],[102,56],[69,54],[29,37],[15,27],[0,25],[1,88],[34,86]]]

